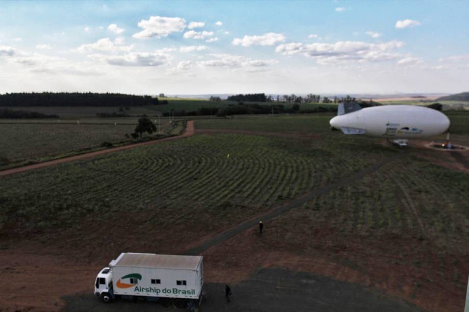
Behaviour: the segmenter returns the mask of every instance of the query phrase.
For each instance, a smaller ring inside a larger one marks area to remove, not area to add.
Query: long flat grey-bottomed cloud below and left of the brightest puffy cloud
[[[160,66],[168,64],[171,56],[164,53],[131,52],[124,55],[90,55],[91,58],[116,66]]]

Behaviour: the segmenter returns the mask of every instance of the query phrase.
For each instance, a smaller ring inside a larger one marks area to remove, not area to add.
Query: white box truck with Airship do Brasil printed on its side
[[[202,288],[201,256],[122,252],[98,273],[94,294],[106,303],[144,298],[194,310],[204,296]]]

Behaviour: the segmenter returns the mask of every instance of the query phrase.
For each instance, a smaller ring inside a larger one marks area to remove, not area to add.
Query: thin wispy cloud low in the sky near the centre
[[[201,67],[223,67],[223,68],[243,68],[248,71],[259,67],[267,67],[278,63],[275,60],[253,60],[241,55],[232,54],[210,54],[215,59],[210,61],[197,62]]]

